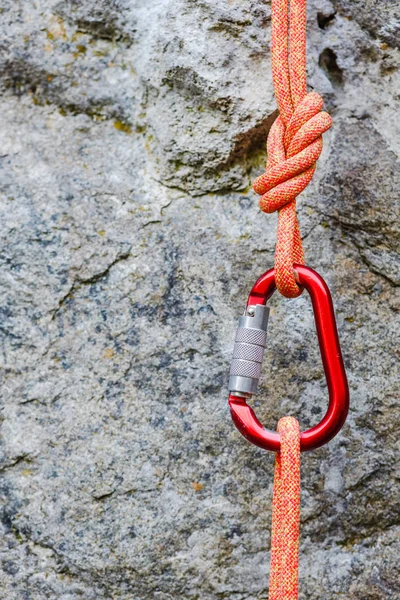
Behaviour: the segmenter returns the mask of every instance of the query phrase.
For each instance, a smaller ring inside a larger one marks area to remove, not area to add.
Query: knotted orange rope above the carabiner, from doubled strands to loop
[[[290,10],[289,10],[290,5]],[[264,212],[278,211],[276,284],[281,294],[302,293],[293,272],[304,264],[296,197],[310,183],[322,152],[322,134],[332,119],[321,112],[323,100],[307,94],[306,0],[272,0],[272,75],[279,117],[271,127],[266,172],[253,188]]]

